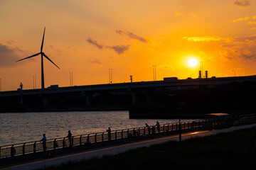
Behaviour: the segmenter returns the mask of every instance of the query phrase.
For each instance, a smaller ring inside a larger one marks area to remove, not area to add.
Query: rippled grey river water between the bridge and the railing
[[[129,119],[128,111],[0,113],[0,146],[93,132],[177,123],[177,119]],[[188,121],[188,120],[182,120]]]

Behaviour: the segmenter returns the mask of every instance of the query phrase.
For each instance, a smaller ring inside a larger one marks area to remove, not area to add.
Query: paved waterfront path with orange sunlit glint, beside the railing
[[[245,128],[252,128],[256,126],[255,124],[251,125],[241,125],[241,126],[235,126],[231,128],[225,128],[225,129],[219,129],[219,130],[206,130],[206,131],[197,131],[197,132],[188,132],[182,134],[182,140],[187,140],[191,137],[203,137],[208,135],[215,135],[221,132],[231,132],[234,130],[240,130]],[[114,155],[119,154],[122,152],[126,152],[130,149],[136,149],[138,147],[149,147],[150,145],[156,145],[167,141],[178,141],[178,135],[172,135],[172,136],[165,136],[165,137],[158,137],[155,139],[150,140],[144,140],[139,142],[131,142],[129,144],[124,145],[115,145],[112,147],[104,147],[101,149],[93,149],[90,151],[84,151],[84,152],[76,152],[75,154],[68,154],[63,157],[53,157],[51,159],[42,159],[37,162],[30,162],[26,164],[20,164],[16,166],[11,166],[9,168],[5,169],[12,169],[12,170],[18,170],[18,169],[40,169],[47,166],[57,166],[65,162],[78,162],[81,159],[90,159],[92,157],[102,157],[103,155]]]

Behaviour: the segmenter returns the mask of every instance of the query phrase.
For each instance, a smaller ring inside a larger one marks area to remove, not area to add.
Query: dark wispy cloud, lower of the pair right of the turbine
[[[130,45],[103,45],[99,44],[96,40],[92,40],[92,38],[87,38],[87,42],[96,47],[100,48],[101,50],[104,48],[109,48],[117,52],[118,55],[122,55],[125,51],[129,50]]]

